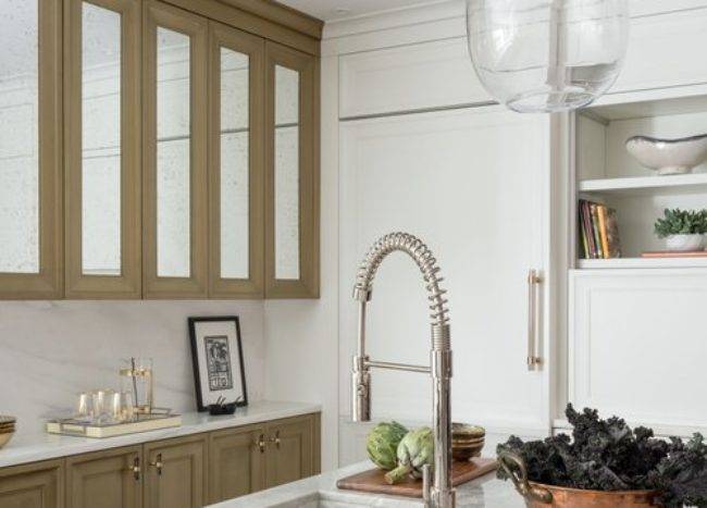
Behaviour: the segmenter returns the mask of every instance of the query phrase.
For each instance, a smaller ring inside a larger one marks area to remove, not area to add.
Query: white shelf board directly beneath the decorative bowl
[[[617,196],[704,193],[707,191],[707,173],[585,179],[580,182],[578,190],[580,193],[615,194]]]

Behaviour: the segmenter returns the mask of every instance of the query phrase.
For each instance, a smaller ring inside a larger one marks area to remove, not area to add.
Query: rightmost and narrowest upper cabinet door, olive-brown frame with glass
[[[319,297],[319,65],[265,44],[265,297]]]

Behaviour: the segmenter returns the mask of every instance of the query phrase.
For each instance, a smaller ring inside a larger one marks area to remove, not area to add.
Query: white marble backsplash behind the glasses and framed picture
[[[0,414],[17,434],[41,432],[44,419],[70,410],[76,394],[119,388],[121,359],[154,362],[156,404],[196,410],[187,318],[238,315],[249,400],[265,382],[262,301],[0,302]]]

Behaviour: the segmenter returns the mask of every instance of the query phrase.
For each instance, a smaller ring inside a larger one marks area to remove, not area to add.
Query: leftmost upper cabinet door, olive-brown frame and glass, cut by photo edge
[[[0,10],[0,297],[59,298],[61,1]]]

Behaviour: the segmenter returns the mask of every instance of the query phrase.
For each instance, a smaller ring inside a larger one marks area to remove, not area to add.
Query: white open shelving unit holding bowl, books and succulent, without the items
[[[682,138],[707,133],[707,96],[592,107],[578,112],[575,125],[575,199],[613,210],[621,252],[618,259],[576,259],[580,270],[707,268],[707,258],[642,258],[663,250],[654,224],[665,209],[707,208],[707,163],[684,175],[658,175],[642,166],[625,148],[643,135]],[[573,218],[576,221],[576,216]],[[578,257],[583,253],[576,235]]]

